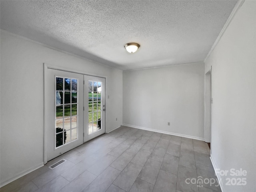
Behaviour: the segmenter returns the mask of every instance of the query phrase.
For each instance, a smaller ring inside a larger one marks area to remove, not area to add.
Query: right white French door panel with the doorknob
[[[84,142],[105,133],[105,78],[84,75]]]

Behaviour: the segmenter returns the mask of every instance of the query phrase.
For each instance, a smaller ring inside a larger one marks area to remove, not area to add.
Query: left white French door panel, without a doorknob
[[[47,161],[83,143],[83,75],[47,69]]]

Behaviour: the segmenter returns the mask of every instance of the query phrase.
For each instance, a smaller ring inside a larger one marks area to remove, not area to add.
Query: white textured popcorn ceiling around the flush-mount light
[[[202,62],[236,2],[1,0],[1,29],[122,70],[150,68]]]

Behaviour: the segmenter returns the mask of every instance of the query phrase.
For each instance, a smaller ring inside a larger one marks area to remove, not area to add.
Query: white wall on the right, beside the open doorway
[[[256,190],[256,1],[245,1],[218,45],[206,60],[212,65],[211,158],[216,168],[242,168],[245,186],[228,186],[224,192]]]

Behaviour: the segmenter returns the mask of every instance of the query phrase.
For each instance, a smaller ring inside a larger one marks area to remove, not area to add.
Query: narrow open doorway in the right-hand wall
[[[205,74],[205,125],[204,141],[211,149],[211,122],[212,122],[212,69]]]

